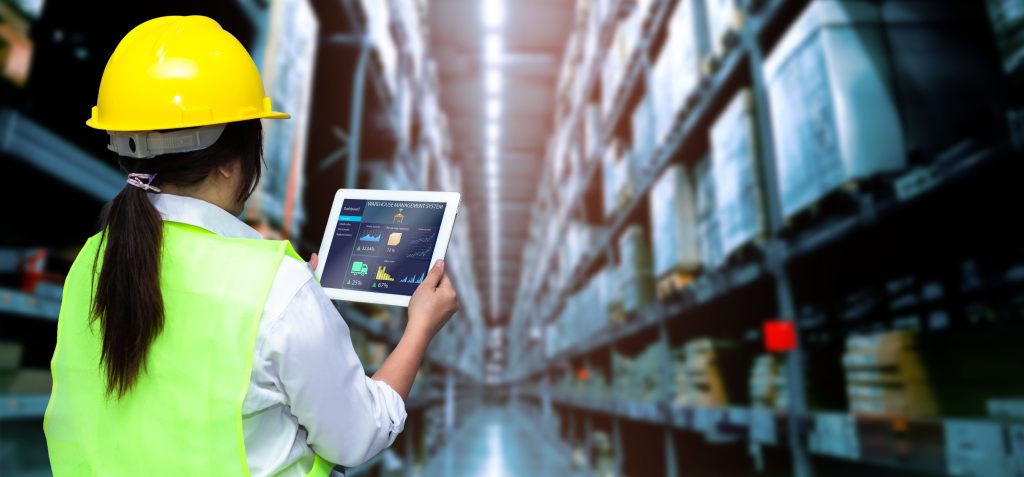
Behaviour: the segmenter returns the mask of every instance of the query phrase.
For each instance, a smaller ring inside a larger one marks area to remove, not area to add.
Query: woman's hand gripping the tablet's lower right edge
[[[459,310],[458,298],[452,280],[444,274],[444,260],[438,260],[409,301],[406,331],[433,338]]]

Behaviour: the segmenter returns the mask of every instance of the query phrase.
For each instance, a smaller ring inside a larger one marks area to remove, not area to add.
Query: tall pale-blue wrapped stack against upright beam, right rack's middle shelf
[[[765,234],[760,153],[754,123],[754,98],[736,93],[711,129],[711,175],[722,254]]]

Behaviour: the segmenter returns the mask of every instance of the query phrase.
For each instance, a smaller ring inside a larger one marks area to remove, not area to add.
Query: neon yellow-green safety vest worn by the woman
[[[242,403],[256,334],[282,259],[298,255],[287,242],[164,222],[164,329],[118,400],[105,392],[99,322],[89,320],[99,247],[95,235],[82,248],[60,304],[43,421],[53,475],[248,476]],[[310,467],[310,476],[334,468],[319,457]]]

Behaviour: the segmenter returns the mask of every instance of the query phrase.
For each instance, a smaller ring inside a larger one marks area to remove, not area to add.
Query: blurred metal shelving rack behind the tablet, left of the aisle
[[[366,137],[367,121],[370,115],[367,111],[367,95],[374,97],[375,103],[383,109],[383,116],[387,118],[386,126],[390,133],[396,138],[396,144],[391,154],[391,162],[388,166],[390,179],[398,188],[419,189],[419,190],[458,190],[459,185],[445,181],[444,174],[433,174],[427,177],[421,171],[447,170],[456,168],[452,163],[450,146],[447,144],[447,132],[443,129],[443,121],[425,122],[420,130],[420,136],[413,138],[409,136],[410,128],[403,127],[399,109],[407,96],[414,98],[412,101],[413,111],[410,113],[410,121],[419,115],[426,115],[427,101],[436,102],[436,84],[430,78],[427,68],[421,68],[420,74],[413,67],[414,62],[428,62],[427,58],[414,58],[413,48],[410,42],[412,37],[418,35],[417,32],[407,31],[398,14],[401,5],[398,0],[388,0],[385,3],[392,14],[389,15],[390,38],[386,41],[393,41],[397,54],[394,81],[385,78],[387,74],[383,61],[377,51],[378,45],[371,35],[371,28],[368,11],[364,8],[364,2],[359,0],[339,0],[341,10],[344,13],[344,24],[347,30],[342,34],[331,35],[328,39],[330,45],[346,46],[357,48],[357,60],[353,71],[352,91],[347,131],[336,131],[336,135],[342,139],[342,146],[334,154],[325,159],[319,167],[326,168],[337,161],[344,161],[345,187],[365,186],[357,181],[358,172],[362,165],[359,163],[360,143]],[[410,14],[402,12],[401,14]],[[422,40],[425,41],[425,40]],[[390,85],[393,84],[392,88]],[[439,112],[438,107],[434,107]],[[427,125],[438,128],[436,131],[428,131]],[[416,139],[414,141],[414,139]],[[417,147],[414,149],[413,144]],[[424,379],[423,387],[418,386],[418,390],[410,396],[407,402],[411,417],[407,422],[407,429],[402,433],[406,440],[404,469],[407,475],[412,475],[414,470],[415,456],[420,451],[420,435],[426,433],[431,435],[430,429],[425,426],[418,426],[419,420],[412,417],[413,414],[424,413],[431,408],[440,407],[443,413],[441,421],[442,429],[439,434],[447,435],[454,431],[456,419],[456,403],[458,402],[457,389],[459,383],[479,382],[482,379],[481,353],[484,326],[483,311],[480,299],[476,291],[476,279],[472,270],[472,252],[469,249],[470,241],[460,228],[468,228],[465,223],[468,217],[461,218],[457,223],[457,230],[453,233],[445,257],[445,270],[452,277],[456,291],[459,294],[461,310],[452,318],[452,321],[438,335],[435,342],[427,351],[426,361],[432,366],[431,376]],[[379,321],[374,321],[365,314],[347,304],[339,304],[339,311],[345,317],[348,324],[354,329],[361,330],[369,339],[382,342],[389,347],[397,344],[401,337],[400,323],[385,326]],[[402,313],[403,314],[403,313]],[[373,371],[370,366],[368,371]],[[433,378],[433,379],[432,379]],[[426,420],[424,420],[426,421]],[[423,449],[429,453],[428,449]],[[429,456],[427,456],[429,457]],[[383,460],[375,460],[367,463],[350,472],[353,475],[372,472]]]

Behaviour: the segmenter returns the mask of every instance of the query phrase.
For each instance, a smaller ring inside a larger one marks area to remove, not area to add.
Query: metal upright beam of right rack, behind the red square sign
[[[749,12],[748,12],[749,13]],[[748,21],[739,31],[740,46],[746,50],[748,67],[751,73],[751,90],[754,93],[755,115],[757,120],[757,147],[760,148],[761,178],[764,199],[767,204],[770,240],[765,249],[765,262],[768,273],[775,285],[775,298],[779,318],[793,320],[796,317],[796,306],[793,299],[793,289],[785,269],[785,244],[779,234],[785,223],[782,215],[781,197],[776,180],[775,145],[772,132],[771,116],[769,115],[768,90],[764,78],[764,54],[758,41],[761,25]],[[787,351],[785,355],[786,387],[790,396],[790,407],[786,415],[787,438],[793,457],[793,473],[796,477],[812,477],[814,469],[810,454],[801,439],[801,418],[807,414],[807,389],[804,383],[804,355],[801,344]]]

